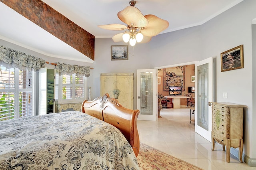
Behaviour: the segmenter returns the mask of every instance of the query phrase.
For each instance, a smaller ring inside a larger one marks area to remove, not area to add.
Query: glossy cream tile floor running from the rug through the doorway
[[[212,151],[211,142],[194,132],[190,109],[162,109],[160,115],[156,122],[138,121],[140,142],[205,170],[256,170],[232,154],[227,163],[226,151],[218,144]]]

